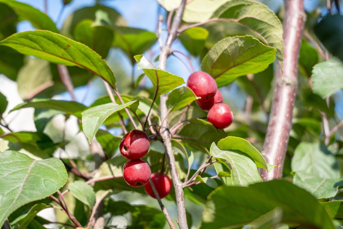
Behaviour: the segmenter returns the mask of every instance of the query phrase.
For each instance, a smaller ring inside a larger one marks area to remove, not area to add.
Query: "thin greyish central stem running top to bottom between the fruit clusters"
[[[185,10],[185,5],[186,5],[186,0],[182,0],[180,7],[178,8],[175,14],[173,24],[170,27],[167,41],[165,45],[161,48],[161,52],[159,54],[159,65],[158,65],[158,67],[161,69],[166,68],[167,57],[171,51],[170,49],[171,43],[173,43],[173,41],[175,40],[177,30],[180,26],[181,18]],[[177,170],[176,170],[175,158],[173,155],[173,150],[171,148],[171,141],[170,141],[171,134],[169,132],[169,123],[168,123],[168,117],[167,117],[168,109],[166,106],[167,99],[168,99],[167,94],[161,95],[161,98],[160,98],[161,120],[165,119],[165,121],[161,125],[161,137],[163,139],[163,145],[166,149],[166,156],[167,156],[168,165],[170,169],[171,179],[173,180],[173,185],[175,189],[176,205],[177,205],[177,213],[178,213],[178,224],[179,224],[180,229],[187,229],[188,226],[187,226],[187,219],[186,219],[184,190],[182,188],[182,182],[180,181]]]

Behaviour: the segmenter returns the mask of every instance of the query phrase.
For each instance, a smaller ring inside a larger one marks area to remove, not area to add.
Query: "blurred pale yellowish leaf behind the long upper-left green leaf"
[[[52,73],[50,62],[30,58],[19,70],[17,76],[18,92],[23,100],[32,99],[42,88],[51,87]]]

